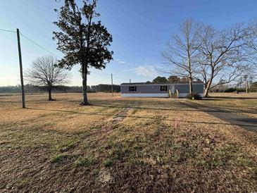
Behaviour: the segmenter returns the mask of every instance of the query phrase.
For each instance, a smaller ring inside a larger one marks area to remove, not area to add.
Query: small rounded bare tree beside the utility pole
[[[32,66],[25,72],[25,77],[32,85],[46,86],[49,101],[52,100],[51,90],[54,85],[68,83],[68,73],[56,66],[57,60],[53,56],[42,56],[32,62]]]

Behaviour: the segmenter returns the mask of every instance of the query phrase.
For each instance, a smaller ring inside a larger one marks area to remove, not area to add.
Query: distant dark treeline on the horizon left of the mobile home
[[[24,85],[25,92],[27,93],[39,93],[47,92],[47,88],[44,86]],[[21,92],[20,85],[0,87],[0,93],[19,93]],[[82,87],[78,86],[55,86],[52,92],[82,92]],[[87,92],[111,92],[111,85],[95,85],[87,86]],[[113,92],[120,92],[120,85],[113,85]]]

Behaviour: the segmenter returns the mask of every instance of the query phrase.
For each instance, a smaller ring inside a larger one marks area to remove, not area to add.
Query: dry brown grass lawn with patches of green
[[[18,96],[0,97],[0,192],[257,189],[257,134],[184,106],[184,99],[96,93],[90,106],[80,106],[80,94],[53,97],[27,96],[27,109]],[[254,103],[215,99],[201,102],[245,111]]]

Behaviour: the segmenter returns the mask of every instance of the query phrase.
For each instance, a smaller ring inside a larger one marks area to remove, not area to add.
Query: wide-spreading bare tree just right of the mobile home
[[[245,39],[248,36],[249,30],[244,24],[234,25],[227,30],[203,27],[199,47],[199,73],[205,89],[203,97],[208,96],[211,88],[230,83],[242,74],[247,66]]]

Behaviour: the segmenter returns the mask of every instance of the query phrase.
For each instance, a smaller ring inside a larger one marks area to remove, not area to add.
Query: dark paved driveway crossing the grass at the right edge
[[[216,118],[225,120],[227,123],[231,123],[232,125],[238,125],[240,127],[243,127],[245,130],[257,132],[256,118],[240,116],[238,114],[232,113],[232,111],[227,111],[222,108],[203,106],[201,104],[193,104],[192,102],[189,102],[189,101],[184,101],[183,104],[189,107],[197,108],[199,109],[199,111],[203,111],[212,116],[215,116]]]

